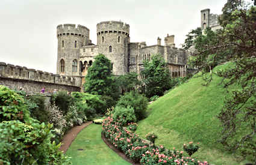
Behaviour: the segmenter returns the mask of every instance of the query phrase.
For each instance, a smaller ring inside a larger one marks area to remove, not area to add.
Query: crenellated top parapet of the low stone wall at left
[[[76,79],[71,76],[60,76],[59,74],[20,67],[18,65],[5,64],[5,62],[0,62],[0,77],[76,87],[81,85],[81,82],[76,82]]]

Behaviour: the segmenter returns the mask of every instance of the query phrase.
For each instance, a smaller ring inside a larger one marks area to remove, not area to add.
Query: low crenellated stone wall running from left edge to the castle
[[[26,67],[0,62],[0,85],[10,89],[23,88],[25,92],[80,91],[82,77],[60,76]]]

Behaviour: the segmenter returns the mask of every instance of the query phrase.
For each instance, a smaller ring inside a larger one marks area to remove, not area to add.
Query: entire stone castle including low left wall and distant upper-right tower
[[[210,9],[201,11],[201,27],[214,30],[220,28],[217,15],[210,14]],[[96,35],[95,45],[90,40],[90,30],[86,26],[58,25],[57,74],[0,62],[0,85],[11,89],[22,88],[26,92],[39,92],[43,87],[46,87],[47,92],[54,89],[80,91],[84,76],[99,53],[110,59],[116,76],[128,72],[140,75],[143,61],[151,60],[155,54],[163,56],[170,76],[184,77],[190,72],[186,65],[189,53],[175,47],[174,35],[167,35],[164,45],[161,45],[159,37],[157,44],[152,46],[147,46],[146,42],[131,43],[130,26],[117,21],[98,23]]]

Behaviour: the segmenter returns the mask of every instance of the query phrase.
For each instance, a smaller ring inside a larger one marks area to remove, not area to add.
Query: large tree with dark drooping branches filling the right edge
[[[236,1],[228,1],[231,2]],[[228,3],[221,17],[223,29],[213,35],[215,39],[204,46],[206,33],[193,41],[196,53],[192,62],[207,73],[204,68],[211,70],[219,59],[229,61],[226,68],[216,73],[223,77],[225,87],[237,87],[231,90],[217,116],[223,126],[221,142],[231,151],[239,149],[256,161],[256,7],[243,1],[233,6]]]

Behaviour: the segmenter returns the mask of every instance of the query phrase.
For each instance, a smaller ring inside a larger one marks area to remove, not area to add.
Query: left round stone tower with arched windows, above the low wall
[[[90,43],[90,30],[85,26],[64,24],[57,26],[57,74],[80,76],[80,48]]]

